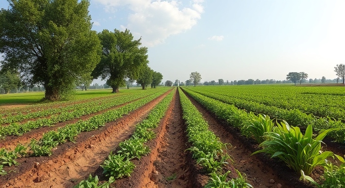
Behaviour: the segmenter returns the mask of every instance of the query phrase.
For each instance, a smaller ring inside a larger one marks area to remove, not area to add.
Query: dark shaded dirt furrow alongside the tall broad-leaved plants
[[[298,174],[286,167],[285,164],[267,159],[263,155],[250,156],[256,145],[243,138],[237,130],[215,118],[212,113],[204,109],[192,97],[189,97],[189,99],[202,113],[209,124],[209,129],[223,143],[231,143],[232,149],[228,151],[228,154],[234,160],[235,168],[242,173],[246,173],[247,182],[254,188],[308,188],[304,183],[298,181]],[[274,183],[270,183],[271,180],[274,180]]]

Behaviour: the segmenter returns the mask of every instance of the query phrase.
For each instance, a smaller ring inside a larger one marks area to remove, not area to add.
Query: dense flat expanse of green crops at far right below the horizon
[[[345,120],[344,87],[203,87],[194,91],[211,92],[228,97],[257,102],[281,109],[298,109],[318,117]],[[320,91],[324,90],[322,93]],[[319,92],[319,93],[316,93]],[[327,92],[327,93],[324,93]]]

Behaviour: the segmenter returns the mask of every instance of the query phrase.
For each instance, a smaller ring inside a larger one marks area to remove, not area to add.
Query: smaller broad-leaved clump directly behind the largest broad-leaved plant
[[[244,123],[241,133],[247,138],[253,138],[256,142],[261,143],[265,141],[264,133],[271,132],[273,127],[274,123],[269,116],[262,114],[255,116],[250,112],[249,119]]]

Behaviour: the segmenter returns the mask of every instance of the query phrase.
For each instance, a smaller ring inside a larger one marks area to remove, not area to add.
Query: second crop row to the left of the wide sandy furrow
[[[160,92],[165,91],[161,90]],[[6,136],[21,136],[26,132],[29,132],[32,129],[37,129],[43,126],[53,126],[55,123],[71,120],[74,118],[80,118],[81,116],[89,115],[96,113],[114,106],[124,104],[136,100],[141,97],[145,97],[151,93],[138,93],[132,95],[123,95],[119,97],[113,97],[109,100],[97,101],[96,103],[86,104],[83,107],[74,108],[74,111],[65,111],[58,115],[52,115],[48,118],[39,118],[32,121],[27,121],[23,124],[20,123],[11,123],[7,126],[0,127],[0,137],[4,138]]]

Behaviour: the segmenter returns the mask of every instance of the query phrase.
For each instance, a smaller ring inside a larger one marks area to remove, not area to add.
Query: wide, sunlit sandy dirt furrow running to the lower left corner
[[[170,92],[170,91],[169,91]],[[71,188],[94,172],[119,142],[129,138],[134,126],[169,92],[99,130],[78,135],[76,144],[67,142],[57,147],[50,157],[19,159],[19,166],[0,177],[6,188]]]

